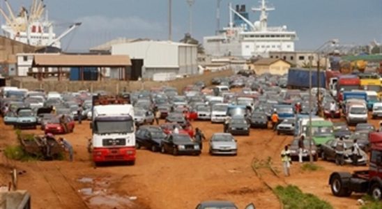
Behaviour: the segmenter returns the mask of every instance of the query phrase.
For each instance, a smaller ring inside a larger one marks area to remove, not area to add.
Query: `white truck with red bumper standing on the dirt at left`
[[[102,162],[135,164],[134,109],[128,100],[107,95],[93,96],[92,155]]]

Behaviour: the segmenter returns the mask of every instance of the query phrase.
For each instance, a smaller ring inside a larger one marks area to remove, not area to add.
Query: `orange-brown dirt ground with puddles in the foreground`
[[[374,125],[378,121],[373,121]],[[221,124],[194,121],[194,127],[207,138],[222,132]],[[17,144],[13,127],[0,121],[0,148]],[[41,130],[33,130],[42,134]],[[333,162],[319,160],[320,171],[302,171],[300,164],[291,166],[291,176],[282,174],[280,151],[292,137],[278,136],[270,130],[252,129],[249,137],[236,137],[236,157],[208,155],[204,142],[199,157],[163,155],[137,150],[134,166],[111,165],[93,167],[87,152],[91,137],[89,122],[77,125],[64,136],[75,149],[75,162],[14,162],[0,157],[0,185],[8,185],[10,167],[24,171],[19,176],[19,189],[32,196],[32,208],[195,208],[201,201],[229,200],[238,208],[254,203],[257,208],[280,208],[277,197],[268,186],[297,185],[303,192],[316,194],[335,208],[359,208],[357,199],[337,198],[330,192],[328,176],[332,171],[354,171],[366,167],[337,167]],[[2,155],[1,155],[2,156]],[[271,157],[277,175],[268,169],[253,171],[252,160]]]

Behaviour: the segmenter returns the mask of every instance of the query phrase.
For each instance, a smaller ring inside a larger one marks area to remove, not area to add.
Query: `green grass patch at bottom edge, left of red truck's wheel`
[[[287,187],[277,186],[275,188],[275,194],[279,196],[284,208],[293,209],[332,209],[333,206],[327,201],[319,199],[313,194],[303,193],[298,187],[288,185]]]

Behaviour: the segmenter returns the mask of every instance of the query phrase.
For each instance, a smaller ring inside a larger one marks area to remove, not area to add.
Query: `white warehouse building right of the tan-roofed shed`
[[[197,45],[181,42],[144,40],[112,45],[113,55],[128,55],[143,60],[142,78],[156,73],[194,75],[198,73]]]

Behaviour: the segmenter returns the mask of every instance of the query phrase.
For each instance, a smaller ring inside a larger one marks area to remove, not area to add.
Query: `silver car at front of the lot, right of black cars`
[[[229,133],[215,133],[210,141],[211,155],[237,155],[238,145],[236,139]]]

